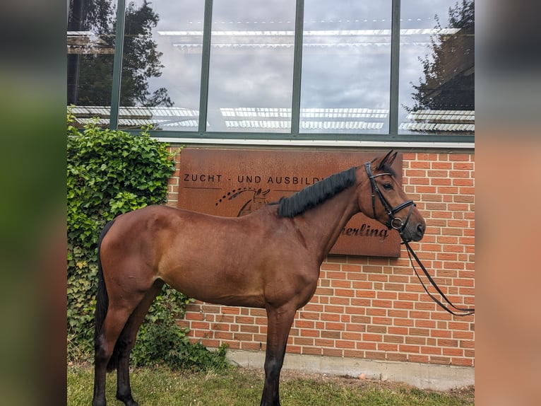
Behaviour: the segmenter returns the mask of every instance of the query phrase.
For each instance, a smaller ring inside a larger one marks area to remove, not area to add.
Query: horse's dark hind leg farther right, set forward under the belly
[[[117,366],[117,399],[124,402],[126,406],[137,406],[137,402],[131,396],[130,376],[129,376],[129,356],[131,349],[136,341],[137,331],[143,323],[148,308],[152,305],[155,297],[162,290],[163,282],[157,280],[152,288],[148,290],[141,303],[131,313],[128,322],[124,326],[121,335],[117,341],[118,366]]]

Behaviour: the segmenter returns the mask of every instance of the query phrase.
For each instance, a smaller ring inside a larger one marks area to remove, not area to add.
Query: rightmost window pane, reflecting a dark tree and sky
[[[400,134],[474,134],[473,0],[402,0]]]

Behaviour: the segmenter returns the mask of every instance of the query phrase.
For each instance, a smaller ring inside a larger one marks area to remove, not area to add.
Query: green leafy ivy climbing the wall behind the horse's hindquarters
[[[107,221],[119,214],[167,198],[167,179],[174,172],[173,155],[151,139],[102,129],[95,123],[83,131],[67,117],[68,231],[68,359],[87,361],[93,354],[97,291],[97,238]],[[174,368],[221,368],[225,347],[210,352],[191,344],[188,330],[175,323],[189,298],[165,285],[138,334],[133,360],[138,365],[167,364]]]

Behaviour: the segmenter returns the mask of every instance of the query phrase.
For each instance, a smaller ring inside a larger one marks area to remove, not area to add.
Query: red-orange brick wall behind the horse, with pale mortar
[[[404,153],[403,166],[405,192],[427,220],[412,248],[456,306],[475,305],[475,156]],[[178,185],[177,172],[168,197],[174,207]],[[208,347],[266,348],[263,309],[196,302],[179,324]],[[316,294],[297,312],[287,352],[474,366],[474,327],[474,315],[452,316],[424,293],[404,249],[396,259],[330,256]]]

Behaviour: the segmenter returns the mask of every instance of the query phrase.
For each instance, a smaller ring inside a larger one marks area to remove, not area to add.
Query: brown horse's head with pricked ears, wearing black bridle
[[[357,169],[362,179],[359,184],[359,209],[380,221],[389,229],[394,228],[405,240],[419,241],[427,227],[415,203],[409,200],[395,179],[391,168],[396,152],[367,162]]]

